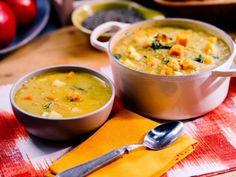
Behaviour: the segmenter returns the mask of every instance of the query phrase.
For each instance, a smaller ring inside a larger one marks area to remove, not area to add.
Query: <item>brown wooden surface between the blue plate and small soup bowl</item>
[[[90,46],[89,36],[74,27],[62,28],[35,39],[0,59],[0,84],[46,66],[74,64],[94,69],[108,65],[106,53]]]

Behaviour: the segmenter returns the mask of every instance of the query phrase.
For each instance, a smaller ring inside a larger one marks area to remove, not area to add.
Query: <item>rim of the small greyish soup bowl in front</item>
[[[86,72],[89,74],[92,74],[96,77],[98,77],[99,79],[103,80],[104,82],[108,83],[109,86],[111,87],[111,96],[109,98],[109,100],[99,109],[96,109],[95,111],[80,115],[80,116],[74,116],[74,117],[67,117],[67,118],[47,118],[47,117],[42,117],[42,116],[38,116],[38,115],[34,115],[31,114],[23,109],[21,109],[14,101],[14,96],[15,93],[18,89],[20,89],[20,87],[22,86],[23,83],[27,82],[28,80],[32,79],[34,76],[43,74],[43,73],[47,73],[47,72],[52,72],[52,71],[66,71],[66,68],[69,70],[69,68],[72,68],[71,70],[78,70],[78,72],[82,71],[82,72]],[[10,103],[12,106],[12,109],[16,109],[17,111],[27,115],[27,118],[33,118],[33,119],[41,119],[41,120],[47,120],[47,121],[69,121],[69,120],[77,120],[77,119],[83,119],[92,115],[95,115],[96,113],[99,113],[100,111],[106,109],[110,104],[113,104],[114,99],[115,99],[115,87],[113,82],[111,81],[110,78],[108,78],[105,74],[102,74],[101,72],[98,72],[92,68],[89,67],[84,67],[84,66],[77,66],[77,65],[54,65],[54,66],[49,66],[49,67],[43,67],[37,70],[34,70],[32,72],[29,72],[27,74],[25,74],[24,76],[20,77],[15,84],[12,86],[11,90],[10,90]]]

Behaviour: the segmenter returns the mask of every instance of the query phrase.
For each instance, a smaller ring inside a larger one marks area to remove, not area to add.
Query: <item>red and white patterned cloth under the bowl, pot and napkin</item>
[[[101,70],[111,77],[109,67]],[[12,114],[10,88],[0,87],[0,176],[42,176],[71,146],[29,136]],[[236,170],[236,79],[231,80],[229,94],[218,108],[187,121],[185,127],[199,145],[164,176],[213,176]]]

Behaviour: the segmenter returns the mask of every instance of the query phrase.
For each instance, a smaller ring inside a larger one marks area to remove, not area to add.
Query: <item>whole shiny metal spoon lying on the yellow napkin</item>
[[[133,144],[114,149],[107,154],[98,157],[97,159],[65,170],[57,174],[56,177],[84,177],[95,171],[96,169],[122,157],[123,154],[139,147],[147,147],[152,150],[160,150],[174,142],[182,133],[182,131],[182,122],[172,121],[163,123],[153,128],[146,134],[143,144]]]

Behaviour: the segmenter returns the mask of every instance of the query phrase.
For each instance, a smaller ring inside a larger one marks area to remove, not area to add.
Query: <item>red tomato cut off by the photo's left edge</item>
[[[8,4],[0,1],[0,49],[10,44],[15,35],[15,16]]]

